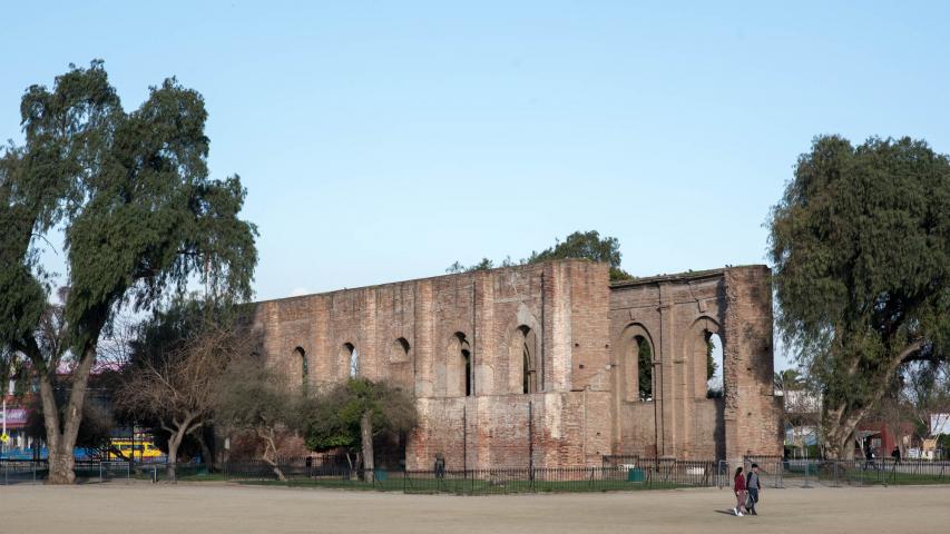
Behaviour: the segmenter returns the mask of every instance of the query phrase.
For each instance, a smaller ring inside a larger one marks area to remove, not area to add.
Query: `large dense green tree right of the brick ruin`
[[[950,161],[921,140],[817,137],[771,215],[789,346],[822,394],[825,453],[915,360],[950,342]]]

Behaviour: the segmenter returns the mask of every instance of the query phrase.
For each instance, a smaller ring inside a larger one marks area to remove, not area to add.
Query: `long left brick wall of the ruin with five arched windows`
[[[359,376],[413,392],[410,468],[437,452],[450,468],[584,465],[610,446],[607,279],[582,260],[448,275],[258,303],[255,328],[291,385],[345,380],[352,348]],[[537,336],[527,395],[519,327]]]

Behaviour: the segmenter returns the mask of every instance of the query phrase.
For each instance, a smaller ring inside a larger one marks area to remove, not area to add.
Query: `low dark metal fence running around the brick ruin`
[[[870,486],[950,484],[950,462],[904,459],[785,459],[781,456],[746,456],[746,472],[760,467],[763,487],[816,485]],[[396,465],[393,468],[392,465]],[[276,467],[263,461],[227,462],[210,473],[203,464],[177,464],[179,481],[224,479],[261,484],[398,491],[404,493],[508,494],[543,492],[608,492],[679,487],[728,487],[734,465],[726,461],[676,461],[638,456],[605,456],[600,467],[543,467],[490,469],[410,469],[390,462],[371,472],[345,457],[282,458]],[[168,479],[165,463],[76,462],[81,483]],[[41,483],[48,462],[0,459],[0,484]]]

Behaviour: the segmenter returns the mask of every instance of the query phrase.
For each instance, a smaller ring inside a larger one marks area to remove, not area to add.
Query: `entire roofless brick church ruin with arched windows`
[[[606,265],[558,260],[262,301],[254,323],[291,386],[345,380],[355,359],[410,388],[408,466],[442,453],[452,469],[778,454],[771,314],[762,266],[611,285]],[[705,398],[706,332],[724,340],[724,399]],[[649,402],[631,390],[637,336]]]

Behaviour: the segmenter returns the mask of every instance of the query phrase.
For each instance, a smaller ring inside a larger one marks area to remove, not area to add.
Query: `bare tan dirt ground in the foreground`
[[[734,517],[726,490],[461,497],[227,484],[0,486],[18,533],[940,533],[950,487],[765,490]]]

